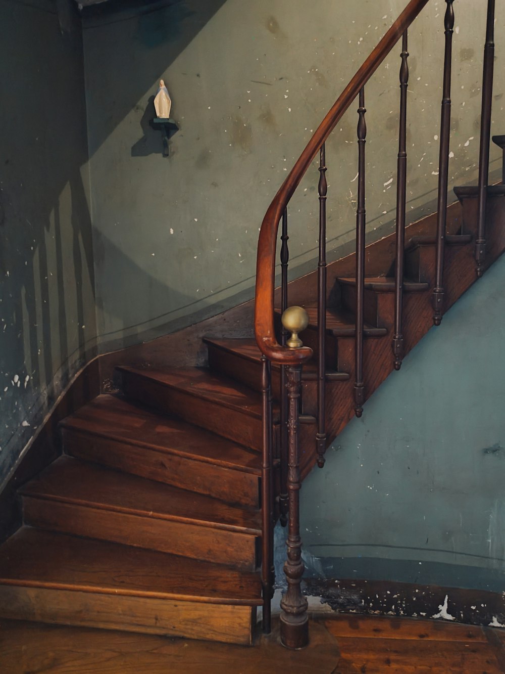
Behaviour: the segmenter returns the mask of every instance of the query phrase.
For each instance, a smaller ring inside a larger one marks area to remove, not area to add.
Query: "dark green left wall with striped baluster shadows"
[[[0,0],[0,489],[96,321],[80,22]]]

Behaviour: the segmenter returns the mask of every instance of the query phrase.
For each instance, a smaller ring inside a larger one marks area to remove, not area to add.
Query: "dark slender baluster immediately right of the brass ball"
[[[321,146],[319,155],[319,261],[317,264],[317,465],[323,468],[326,452],[326,151]]]

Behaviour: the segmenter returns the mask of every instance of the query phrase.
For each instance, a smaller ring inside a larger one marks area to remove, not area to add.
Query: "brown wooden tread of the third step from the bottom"
[[[261,458],[231,440],[182,419],[151,412],[112,395],[98,396],[61,425],[67,429],[114,438],[156,452],[178,454],[203,462],[261,474]]]

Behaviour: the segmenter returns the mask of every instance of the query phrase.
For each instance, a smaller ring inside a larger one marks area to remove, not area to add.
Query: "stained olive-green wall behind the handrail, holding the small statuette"
[[[166,334],[253,296],[258,228],[271,198],[404,6],[184,0],[84,23],[103,350]],[[436,196],[444,9],[441,0],[430,2],[411,30],[409,218],[431,211]],[[455,3],[451,185],[476,175],[481,9],[472,0]],[[399,51],[366,92],[370,237],[393,227]],[[169,158],[148,124],[160,77],[180,124]],[[497,68],[494,119],[504,89],[505,71]],[[354,240],[356,121],[353,106],[328,143],[330,259]],[[499,155],[492,150],[492,169]],[[316,166],[309,173],[290,209],[294,275],[313,269],[316,257]]]

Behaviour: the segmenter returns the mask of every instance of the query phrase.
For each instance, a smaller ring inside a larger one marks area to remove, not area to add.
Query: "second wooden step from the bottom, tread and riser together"
[[[20,489],[24,522],[253,570],[261,514],[62,456]]]

